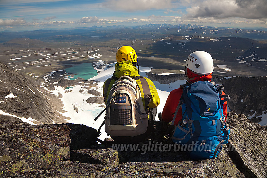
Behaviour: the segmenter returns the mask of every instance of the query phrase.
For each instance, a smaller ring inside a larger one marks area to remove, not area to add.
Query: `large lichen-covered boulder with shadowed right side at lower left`
[[[29,125],[14,120],[0,123],[0,135],[0,177],[49,170],[70,159],[71,149],[97,144],[96,129],[79,124]]]

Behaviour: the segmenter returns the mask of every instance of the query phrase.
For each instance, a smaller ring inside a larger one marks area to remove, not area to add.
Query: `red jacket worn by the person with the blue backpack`
[[[203,81],[203,80],[210,80],[211,79],[211,75],[198,76],[196,74],[193,74],[189,69],[188,69],[187,77],[192,79],[192,80],[190,80],[191,83],[194,83],[196,81]],[[171,122],[172,121],[175,110],[178,106],[178,103],[179,103],[179,100],[180,100],[182,94],[183,94],[183,89],[181,89],[181,88],[172,90],[170,92],[170,94],[166,100],[166,104],[165,104],[163,111],[162,111],[163,121],[165,121],[165,122]],[[223,94],[225,94],[225,93],[222,92],[222,95]],[[222,110],[223,110],[223,115],[226,116],[225,117],[225,120],[226,120],[226,118],[227,118],[227,101],[223,103]],[[182,107],[178,110],[174,124],[177,125],[178,122],[181,120],[182,120]]]

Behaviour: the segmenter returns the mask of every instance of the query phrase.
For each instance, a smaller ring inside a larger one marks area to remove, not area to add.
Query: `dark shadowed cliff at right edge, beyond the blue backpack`
[[[246,116],[267,111],[267,77],[232,77],[221,82],[231,97],[227,102],[232,111]]]

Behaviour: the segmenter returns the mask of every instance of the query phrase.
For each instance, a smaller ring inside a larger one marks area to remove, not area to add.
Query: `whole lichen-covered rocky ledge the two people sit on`
[[[219,157],[207,160],[143,149],[149,143],[167,143],[159,122],[154,140],[136,144],[140,151],[122,151],[112,149],[112,142],[97,144],[96,130],[84,125],[0,121],[0,177],[267,176],[267,130],[235,112],[228,112],[229,143]]]

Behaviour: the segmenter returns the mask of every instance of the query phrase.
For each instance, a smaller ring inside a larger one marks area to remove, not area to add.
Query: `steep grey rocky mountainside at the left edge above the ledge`
[[[3,63],[0,63],[0,110],[45,124],[60,116],[36,85]]]

